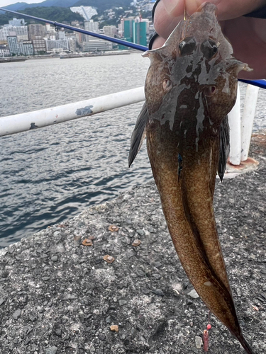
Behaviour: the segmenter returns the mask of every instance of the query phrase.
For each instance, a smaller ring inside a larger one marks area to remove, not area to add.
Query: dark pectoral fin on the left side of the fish
[[[146,102],[143,104],[143,108],[140,110],[138,119],[135,122],[135,128],[131,135],[131,149],[128,156],[128,166],[130,167],[133,163],[135,156],[137,156],[140,151],[140,147],[145,139],[145,125],[148,121],[148,108]]]

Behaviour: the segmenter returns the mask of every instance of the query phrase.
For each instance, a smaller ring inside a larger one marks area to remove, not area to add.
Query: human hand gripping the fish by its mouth
[[[154,25],[159,37],[153,49],[161,47],[184,16],[184,6],[192,14],[205,0],[160,0],[155,8]],[[243,79],[266,79],[266,19],[243,17],[266,6],[266,0],[209,0],[216,4],[223,34],[233,46],[235,58],[248,63],[253,72],[240,72]]]

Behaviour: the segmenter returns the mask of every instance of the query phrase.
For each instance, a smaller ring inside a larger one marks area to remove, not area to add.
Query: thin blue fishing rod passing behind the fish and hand
[[[16,15],[20,15],[23,17],[33,18],[33,20],[36,21],[50,23],[50,25],[54,25],[55,28],[67,28],[67,30],[74,30],[74,32],[84,33],[85,35],[92,35],[92,37],[101,38],[102,40],[109,40],[109,42],[113,42],[119,45],[124,45],[125,47],[130,47],[136,50],[140,50],[141,52],[146,52],[146,50],[148,50],[148,47],[145,47],[144,45],[138,45],[132,42],[128,42],[127,40],[120,40],[119,38],[109,37],[108,35],[100,35],[99,33],[90,32],[89,30],[83,30],[82,28],[73,27],[72,25],[65,25],[65,23],[45,20],[45,18],[26,15],[26,13],[6,10],[6,8],[1,8],[1,7],[0,7],[0,11],[15,13]],[[246,84],[250,84],[250,85],[258,86],[262,89],[266,89],[266,80],[243,80],[243,79],[238,79],[238,80],[245,82]]]

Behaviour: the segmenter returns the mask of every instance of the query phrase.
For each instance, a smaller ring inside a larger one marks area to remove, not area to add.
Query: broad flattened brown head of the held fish
[[[214,4],[204,3],[180,21],[165,45],[146,52],[150,58],[145,98],[150,118],[217,130],[235,104],[237,76],[250,70],[233,57]],[[205,118],[208,118],[207,120]],[[200,124],[199,124],[200,123]]]

